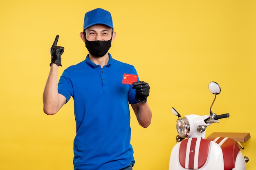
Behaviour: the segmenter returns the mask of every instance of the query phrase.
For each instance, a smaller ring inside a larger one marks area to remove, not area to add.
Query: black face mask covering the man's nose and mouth
[[[108,41],[88,41],[85,38],[85,47],[93,56],[103,57],[111,47],[111,40],[112,37]]]

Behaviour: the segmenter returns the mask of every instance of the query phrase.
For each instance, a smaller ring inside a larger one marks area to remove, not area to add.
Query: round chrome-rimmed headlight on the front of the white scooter
[[[189,120],[186,117],[178,119],[176,129],[181,137],[187,137],[190,131]]]

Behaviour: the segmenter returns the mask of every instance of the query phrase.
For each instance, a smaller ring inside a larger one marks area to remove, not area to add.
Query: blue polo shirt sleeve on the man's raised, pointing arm
[[[70,74],[66,70],[64,70],[58,82],[58,93],[65,96],[67,102],[70,100],[70,97],[73,96],[72,81]]]

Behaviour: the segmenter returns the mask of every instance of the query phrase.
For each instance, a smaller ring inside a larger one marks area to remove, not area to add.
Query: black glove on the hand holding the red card
[[[145,103],[147,101],[147,97],[149,96],[149,85],[144,81],[137,81],[132,83],[132,89],[135,89],[135,99],[141,103]]]

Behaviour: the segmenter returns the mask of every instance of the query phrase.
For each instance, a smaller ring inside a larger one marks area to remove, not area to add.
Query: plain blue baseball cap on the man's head
[[[85,13],[83,30],[96,24],[104,24],[114,29],[110,12],[101,8],[97,8]]]

